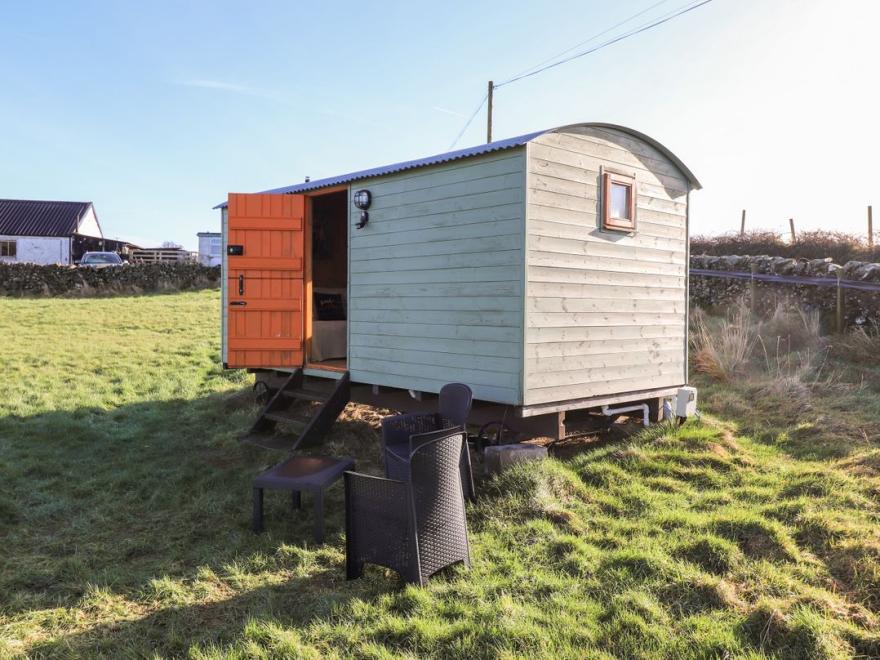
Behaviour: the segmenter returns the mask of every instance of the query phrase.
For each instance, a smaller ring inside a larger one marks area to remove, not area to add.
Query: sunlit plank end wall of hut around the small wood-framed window
[[[687,193],[670,160],[610,128],[527,146],[524,404],[687,381]],[[635,177],[636,231],[603,231],[600,168]]]

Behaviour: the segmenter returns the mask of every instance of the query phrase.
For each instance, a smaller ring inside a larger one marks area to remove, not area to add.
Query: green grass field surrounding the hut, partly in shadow
[[[345,581],[339,487],[326,545],[279,493],[251,534],[279,456],[218,310],[0,299],[0,657],[880,656],[876,363],[700,376],[702,422],[484,482],[472,570],[420,589]],[[329,451],[375,472],[378,420]]]

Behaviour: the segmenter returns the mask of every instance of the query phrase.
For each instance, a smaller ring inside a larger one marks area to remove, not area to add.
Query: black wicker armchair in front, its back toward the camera
[[[345,473],[345,565],[386,566],[424,585],[441,568],[470,567],[459,457],[466,433],[435,431],[410,440],[406,480]]]

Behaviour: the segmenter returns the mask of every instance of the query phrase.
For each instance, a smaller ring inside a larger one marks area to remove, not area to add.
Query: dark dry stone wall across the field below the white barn
[[[219,266],[190,262],[102,269],[0,263],[0,295],[3,296],[112,296],[219,286]]]

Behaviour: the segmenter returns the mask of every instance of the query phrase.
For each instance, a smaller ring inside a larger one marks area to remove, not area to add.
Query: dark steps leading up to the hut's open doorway
[[[303,449],[320,444],[351,397],[346,371],[336,380],[306,376],[297,369],[260,412],[246,442],[264,449]],[[281,425],[284,432],[279,432]]]

